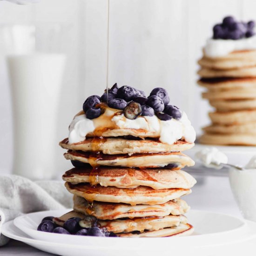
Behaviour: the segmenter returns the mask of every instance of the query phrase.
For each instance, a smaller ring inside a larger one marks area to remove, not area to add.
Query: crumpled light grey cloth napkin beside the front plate
[[[4,221],[22,214],[72,208],[72,195],[61,181],[33,182],[17,175],[0,175],[0,232]],[[0,246],[8,242],[0,235]]]

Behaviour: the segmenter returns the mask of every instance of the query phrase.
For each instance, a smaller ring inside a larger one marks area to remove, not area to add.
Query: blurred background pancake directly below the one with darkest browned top
[[[234,100],[234,99],[255,99],[256,88],[250,89],[234,89],[221,92],[205,92],[202,93],[202,98],[208,100]]]

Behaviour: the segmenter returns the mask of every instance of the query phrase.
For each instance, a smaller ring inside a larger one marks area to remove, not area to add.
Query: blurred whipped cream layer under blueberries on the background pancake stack
[[[211,58],[222,57],[234,51],[256,49],[256,35],[238,40],[208,39],[204,54]]]

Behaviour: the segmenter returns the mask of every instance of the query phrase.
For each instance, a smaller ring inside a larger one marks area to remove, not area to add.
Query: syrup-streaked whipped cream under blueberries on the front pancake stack
[[[93,133],[95,129],[102,127],[104,122],[106,124],[106,121],[120,129],[142,129],[153,132],[163,143],[173,144],[182,138],[189,143],[195,141],[195,129],[185,112],[181,120],[172,118],[168,121],[161,121],[155,115],[139,116],[130,120],[122,114],[115,115],[116,112],[114,109],[107,108],[100,117],[92,120],[87,119],[84,114],[75,116],[69,127],[68,142],[72,144],[84,141],[88,133]]]

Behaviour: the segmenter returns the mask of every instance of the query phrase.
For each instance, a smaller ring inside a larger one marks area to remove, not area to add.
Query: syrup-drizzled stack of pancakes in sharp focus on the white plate
[[[102,129],[89,136],[78,143],[60,142],[68,150],[65,158],[76,167],[63,175],[67,190],[74,194],[74,211],[55,220],[58,224],[78,216],[87,227],[86,217],[93,216],[101,228],[117,236],[193,232],[183,215],[189,206],[180,197],[191,193],[196,182],[181,170],[194,165],[181,153],[194,143],[179,140],[169,145],[140,129]]]

